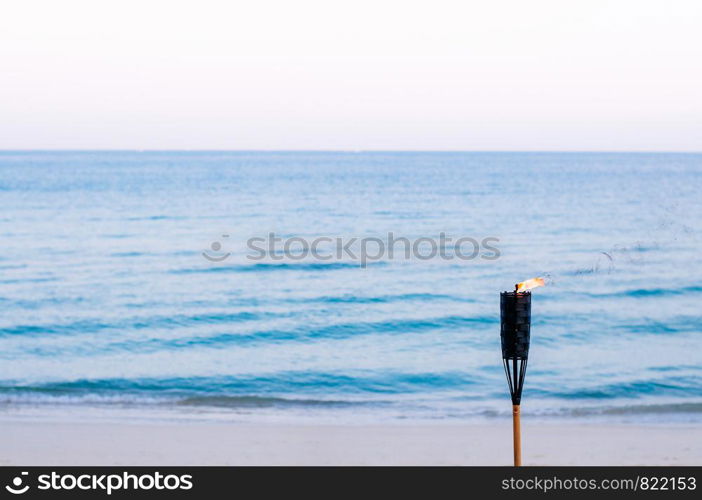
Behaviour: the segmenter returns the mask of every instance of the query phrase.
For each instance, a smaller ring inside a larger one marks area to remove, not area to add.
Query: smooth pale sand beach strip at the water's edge
[[[511,465],[507,420],[371,426],[4,420],[1,465]],[[525,422],[524,465],[700,465],[695,425]]]

